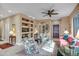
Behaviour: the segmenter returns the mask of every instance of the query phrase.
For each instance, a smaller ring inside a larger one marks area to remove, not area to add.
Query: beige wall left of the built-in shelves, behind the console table
[[[11,17],[10,19],[10,30],[12,28],[12,24],[15,24],[15,28],[16,28],[16,44],[19,44],[21,42],[21,37],[22,37],[22,34],[21,34],[21,16],[20,14],[16,14],[14,16]]]

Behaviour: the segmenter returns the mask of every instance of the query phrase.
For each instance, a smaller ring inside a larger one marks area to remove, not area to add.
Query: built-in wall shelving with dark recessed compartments
[[[22,38],[33,37],[33,21],[27,18],[22,18]]]

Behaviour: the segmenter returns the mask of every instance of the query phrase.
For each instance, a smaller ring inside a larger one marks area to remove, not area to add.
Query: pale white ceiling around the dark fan
[[[0,18],[20,12],[34,19],[48,19],[49,17],[43,17],[41,12],[54,8],[55,12],[59,14],[51,18],[60,19],[68,16],[76,5],[76,3],[2,3],[0,4]]]

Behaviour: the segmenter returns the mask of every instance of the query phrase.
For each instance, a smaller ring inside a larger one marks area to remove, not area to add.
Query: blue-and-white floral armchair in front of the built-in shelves
[[[33,38],[24,38],[24,47],[25,47],[25,53],[27,55],[35,55],[39,53],[39,48],[37,43],[33,40]]]

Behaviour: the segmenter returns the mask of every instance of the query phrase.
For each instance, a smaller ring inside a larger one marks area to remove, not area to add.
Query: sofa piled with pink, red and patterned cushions
[[[60,47],[59,51],[61,54],[66,56],[78,56],[79,55],[79,40],[68,36],[67,39],[64,39],[64,36],[60,36],[59,38]]]

